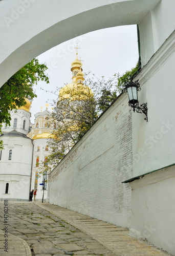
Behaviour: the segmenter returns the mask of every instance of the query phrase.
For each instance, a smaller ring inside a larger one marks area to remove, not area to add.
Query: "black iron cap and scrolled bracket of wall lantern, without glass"
[[[130,87],[135,87],[135,88],[136,88],[135,90],[137,90],[137,91],[140,91],[140,90],[141,90],[139,80],[136,80],[136,81],[134,81],[134,82],[133,82],[132,80],[130,80],[130,82],[127,83],[127,84],[125,85],[125,87],[123,88],[123,91],[124,91],[125,93],[128,93],[128,90],[127,90],[127,89],[130,88]],[[128,97],[129,97],[129,95],[128,95]],[[145,120],[145,121],[148,121],[147,102],[146,102],[146,103],[142,103],[142,104],[139,106],[139,101],[138,101],[138,98],[137,98],[137,99],[129,100],[128,105],[133,108],[133,111],[134,111],[134,112],[136,111],[137,113],[140,113],[140,114],[143,113],[143,114],[145,114],[146,117],[144,118],[144,120]]]

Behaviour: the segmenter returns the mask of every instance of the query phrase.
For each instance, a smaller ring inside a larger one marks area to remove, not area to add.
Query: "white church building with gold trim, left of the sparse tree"
[[[47,173],[39,174],[47,164],[49,148],[47,140],[53,129],[49,123],[51,112],[47,109],[35,114],[30,123],[31,101],[17,111],[11,111],[10,126],[3,124],[4,150],[0,151],[0,200],[29,201],[29,193],[37,189],[36,201],[43,196],[42,180],[45,179],[44,200],[47,198]]]

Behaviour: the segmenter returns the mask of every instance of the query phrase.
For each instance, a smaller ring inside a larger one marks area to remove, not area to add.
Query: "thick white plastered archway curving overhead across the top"
[[[140,24],[160,0],[0,2],[2,86],[32,58],[78,35],[102,28]]]

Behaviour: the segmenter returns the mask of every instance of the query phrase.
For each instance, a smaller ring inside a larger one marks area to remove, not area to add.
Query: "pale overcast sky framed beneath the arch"
[[[81,57],[83,72],[92,71],[97,77],[105,76],[106,79],[134,68],[138,61],[138,43],[136,25],[120,26],[101,29],[81,35],[50,49],[39,55],[40,63],[46,63],[49,68],[47,73],[50,83],[39,82],[34,86],[37,98],[32,102],[31,122],[34,123],[34,114],[46,110],[51,111],[52,99],[57,99],[53,93],[56,87],[61,88],[64,83],[72,80],[71,63],[76,58],[76,44],[78,44],[78,58]],[[40,89],[42,88],[42,89]]]

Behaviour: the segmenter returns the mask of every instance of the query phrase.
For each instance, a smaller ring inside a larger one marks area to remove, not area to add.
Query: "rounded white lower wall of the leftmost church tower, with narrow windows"
[[[4,150],[0,161],[1,200],[28,201],[32,166],[32,142],[22,137],[4,137]],[[12,159],[9,160],[9,151]],[[6,183],[9,183],[8,194]]]

